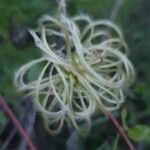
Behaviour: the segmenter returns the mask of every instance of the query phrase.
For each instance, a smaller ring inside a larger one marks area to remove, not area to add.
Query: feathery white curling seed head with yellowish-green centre
[[[41,57],[16,72],[15,85],[33,97],[51,134],[59,133],[64,122],[88,132],[96,110],[113,111],[124,102],[135,72],[118,26],[86,15],[45,15],[30,33]],[[44,64],[38,78],[26,82],[37,64]]]

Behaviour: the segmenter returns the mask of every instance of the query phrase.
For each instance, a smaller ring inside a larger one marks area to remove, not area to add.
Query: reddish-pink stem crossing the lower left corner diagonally
[[[30,150],[36,150],[34,144],[30,140],[30,138],[28,137],[26,131],[20,125],[20,123],[17,120],[17,118],[15,117],[14,113],[11,111],[11,109],[9,108],[9,106],[7,105],[7,103],[5,102],[4,98],[1,95],[0,95],[0,105],[2,106],[4,112],[11,119],[11,121],[14,123],[14,125],[16,126],[16,128],[18,129],[20,135],[26,141],[26,143],[27,143],[28,147],[30,148]]]

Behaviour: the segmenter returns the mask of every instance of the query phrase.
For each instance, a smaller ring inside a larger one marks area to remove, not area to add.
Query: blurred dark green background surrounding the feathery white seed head
[[[95,19],[112,19],[122,28],[130,48],[129,57],[136,69],[136,81],[127,91],[125,104],[115,115],[120,122],[124,120],[129,126],[126,132],[136,149],[148,150],[150,147],[150,0],[120,1],[122,3],[119,6],[119,0],[68,0],[68,14],[73,16],[87,13]],[[28,129],[39,150],[126,150],[124,141],[116,138],[117,131],[112,123],[101,116],[93,122],[92,131],[86,138],[65,129],[56,137],[48,135],[40,115],[35,119],[30,100],[22,98],[22,95],[16,92],[13,85],[15,71],[25,62],[38,58],[40,54],[27,29],[36,27],[36,20],[42,14],[55,15],[56,11],[57,3],[54,0],[0,0],[1,95],[5,97],[22,125]],[[29,77],[35,76],[36,71],[38,69],[31,72]],[[0,149],[26,149],[9,118],[2,109],[0,110]]]

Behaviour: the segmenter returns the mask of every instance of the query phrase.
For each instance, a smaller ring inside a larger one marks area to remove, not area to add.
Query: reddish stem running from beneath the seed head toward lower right
[[[117,130],[119,131],[120,135],[123,137],[125,142],[127,143],[129,150],[135,150],[134,146],[132,145],[131,141],[128,139],[126,133],[124,132],[123,128],[120,126],[116,118],[113,116],[112,113],[106,112],[106,115],[109,117],[109,119],[113,122]]]

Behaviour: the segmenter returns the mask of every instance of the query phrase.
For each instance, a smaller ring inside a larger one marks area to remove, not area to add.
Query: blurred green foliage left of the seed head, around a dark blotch
[[[0,2],[0,92],[9,103],[16,105],[16,89],[13,85],[14,72],[19,66],[38,52],[29,45],[17,49],[10,38],[9,30],[13,25],[32,27],[43,13],[54,14],[54,4],[49,0],[1,0]]]

